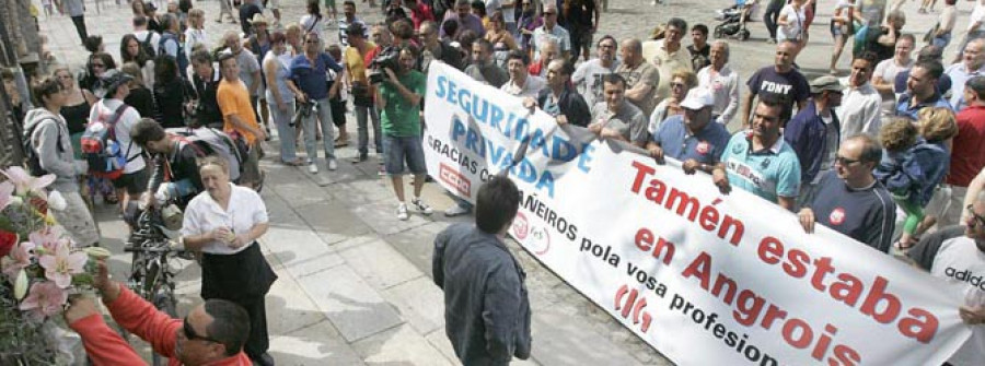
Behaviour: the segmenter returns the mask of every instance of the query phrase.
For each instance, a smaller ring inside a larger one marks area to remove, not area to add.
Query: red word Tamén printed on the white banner
[[[647,177],[657,173],[657,169],[640,162],[633,162],[636,168],[636,177],[633,179],[633,186],[629,190],[633,193],[641,194],[644,199],[662,206],[674,214],[684,217],[687,221],[697,223],[703,229],[718,235],[719,238],[728,240],[733,246],[739,246],[742,241],[742,235],[745,234],[745,225],[742,221],[726,214],[725,216],[715,205],[721,203],[721,199],[716,199],[710,205],[704,205],[696,198],[686,191],[668,186],[660,179],[653,178],[646,180]],[[644,182],[647,182],[645,186]],[[716,232],[717,231],[717,232]]]

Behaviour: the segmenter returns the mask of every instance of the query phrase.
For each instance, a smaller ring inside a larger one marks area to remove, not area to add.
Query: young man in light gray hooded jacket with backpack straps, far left
[[[24,117],[25,147],[33,150],[28,156],[36,156],[27,164],[34,170],[31,174],[55,176],[48,198],[55,220],[68,231],[77,246],[96,245],[100,234],[95,221],[79,193],[79,175],[86,169],[83,163],[76,163],[68,126],[59,115],[67,101],[63,87],[56,79],[48,78],[35,86],[34,95],[42,107],[32,109]],[[63,208],[57,196],[65,199]]]

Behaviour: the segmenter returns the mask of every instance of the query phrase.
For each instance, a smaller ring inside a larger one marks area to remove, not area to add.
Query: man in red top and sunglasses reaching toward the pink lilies
[[[250,334],[250,317],[239,305],[209,299],[192,309],[185,319],[174,319],[126,286],[109,281],[105,263],[100,264],[95,287],[113,319],[150,343],[162,356],[187,366],[252,365],[243,353],[243,344]],[[93,365],[146,364],[106,324],[94,298],[73,298],[65,311],[65,319],[81,335]]]

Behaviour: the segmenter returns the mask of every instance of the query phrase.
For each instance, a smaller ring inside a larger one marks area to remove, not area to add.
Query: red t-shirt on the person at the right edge
[[[947,182],[967,187],[985,167],[985,106],[969,106],[958,114],[958,135],[951,149]]]

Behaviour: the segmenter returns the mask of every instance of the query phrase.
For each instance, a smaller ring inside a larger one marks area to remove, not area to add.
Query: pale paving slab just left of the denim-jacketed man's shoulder
[[[374,240],[338,252],[366,282],[379,291],[424,275],[404,256],[383,240]]]

